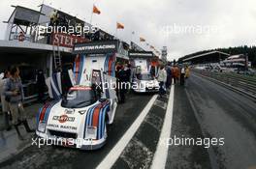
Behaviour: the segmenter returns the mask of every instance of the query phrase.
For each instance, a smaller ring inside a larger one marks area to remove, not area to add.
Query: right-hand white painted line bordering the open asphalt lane
[[[175,85],[172,85],[168,106],[165,115],[164,125],[162,127],[161,135],[157,144],[156,152],[152,161],[151,169],[164,169],[168,155],[168,147],[166,140],[171,136],[172,122],[173,122],[173,108],[174,108],[174,91]]]

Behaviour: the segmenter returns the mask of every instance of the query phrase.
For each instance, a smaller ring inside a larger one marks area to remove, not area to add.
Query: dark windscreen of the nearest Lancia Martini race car
[[[62,99],[61,106],[65,108],[82,108],[97,101],[93,90],[70,90]]]

